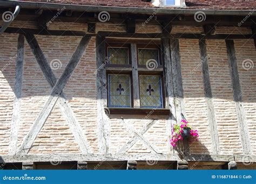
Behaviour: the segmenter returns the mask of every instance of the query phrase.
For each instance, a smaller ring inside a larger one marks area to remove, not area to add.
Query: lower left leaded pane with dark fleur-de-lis
[[[109,107],[131,107],[130,75],[109,75]]]

